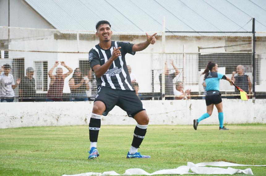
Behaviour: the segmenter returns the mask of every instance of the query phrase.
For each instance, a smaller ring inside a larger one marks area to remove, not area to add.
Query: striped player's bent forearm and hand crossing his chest
[[[112,56],[103,65],[93,66],[92,69],[98,78],[100,78],[109,69],[110,65],[113,63],[114,60],[118,58],[118,56],[121,56],[121,51],[119,49],[121,49],[121,47],[114,48]]]

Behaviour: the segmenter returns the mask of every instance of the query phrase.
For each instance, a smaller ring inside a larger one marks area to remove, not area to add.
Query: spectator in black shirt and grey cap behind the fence
[[[34,69],[28,67],[26,69],[26,76],[21,79],[19,84],[19,97],[22,102],[34,102],[36,97]]]

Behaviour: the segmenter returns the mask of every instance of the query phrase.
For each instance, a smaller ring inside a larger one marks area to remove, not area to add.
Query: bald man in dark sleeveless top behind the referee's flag
[[[235,84],[240,87],[242,90],[244,90],[245,92],[248,92],[248,94],[251,94],[251,81],[250,78],[247,74],[244,73],[244,67],[243,65],[238,65],[236,67],[236,72],[237,75],[235,76],[235,72],[233,72],[232,74],[232,81],[235,82]],[[239,94],[239,91],[237,88],[235,88],[235,93]]]

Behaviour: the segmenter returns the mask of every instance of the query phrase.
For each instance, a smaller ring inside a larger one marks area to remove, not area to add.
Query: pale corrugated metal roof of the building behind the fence
[[[265,0],[25,0],[57,29],[95,31],[266,31]]]

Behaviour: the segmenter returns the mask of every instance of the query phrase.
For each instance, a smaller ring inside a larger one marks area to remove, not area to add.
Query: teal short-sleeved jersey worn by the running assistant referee
[[[206,91],[220,91],[220,79],[226,79],[226,76],[218,72],[209,72],[207,75],[205,75]]]

